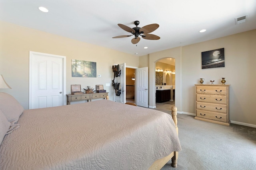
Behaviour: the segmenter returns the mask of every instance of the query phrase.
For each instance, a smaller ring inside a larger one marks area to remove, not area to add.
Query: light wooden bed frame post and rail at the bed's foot
[[[172,106],[172,119],[176,126],[176,132],[178,134],[177,126],[177,107]],[[178,152],[172,152],[168,156],[156,160],[149,168],[149,170],[160,170],[170,159],[172,159],[172,167],[177,168]]]

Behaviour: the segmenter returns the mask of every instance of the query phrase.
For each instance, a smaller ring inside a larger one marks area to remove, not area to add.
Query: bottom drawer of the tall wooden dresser
[[[215,121],[227,122],[227,114],[196,109],[196,116]]]

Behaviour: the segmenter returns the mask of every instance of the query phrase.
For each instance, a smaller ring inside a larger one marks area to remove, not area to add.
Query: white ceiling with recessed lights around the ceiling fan
[[[244,15],[248,21],[235,25]],[[141,56],[256,29],[256,0],[0,0],[0,20]],[[136,20],[158,23],[152,34],[161,39],[137,46],[133,37],[112,39],[130,35],[118,23],[135,27]]]

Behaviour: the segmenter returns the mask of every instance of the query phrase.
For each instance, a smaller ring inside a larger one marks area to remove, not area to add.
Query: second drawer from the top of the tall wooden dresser
[[[211,95],[211,94],[196,94],[196,101],[209,102],[216,104],[227,104],[227,96]]]

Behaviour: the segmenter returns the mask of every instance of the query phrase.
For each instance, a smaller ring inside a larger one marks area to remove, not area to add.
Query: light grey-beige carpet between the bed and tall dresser
[[[178,168],[172,168],[169,161],[162,170],[256,169],[256,128],[227,127],[184,114],[177,117],[182,146]]]

